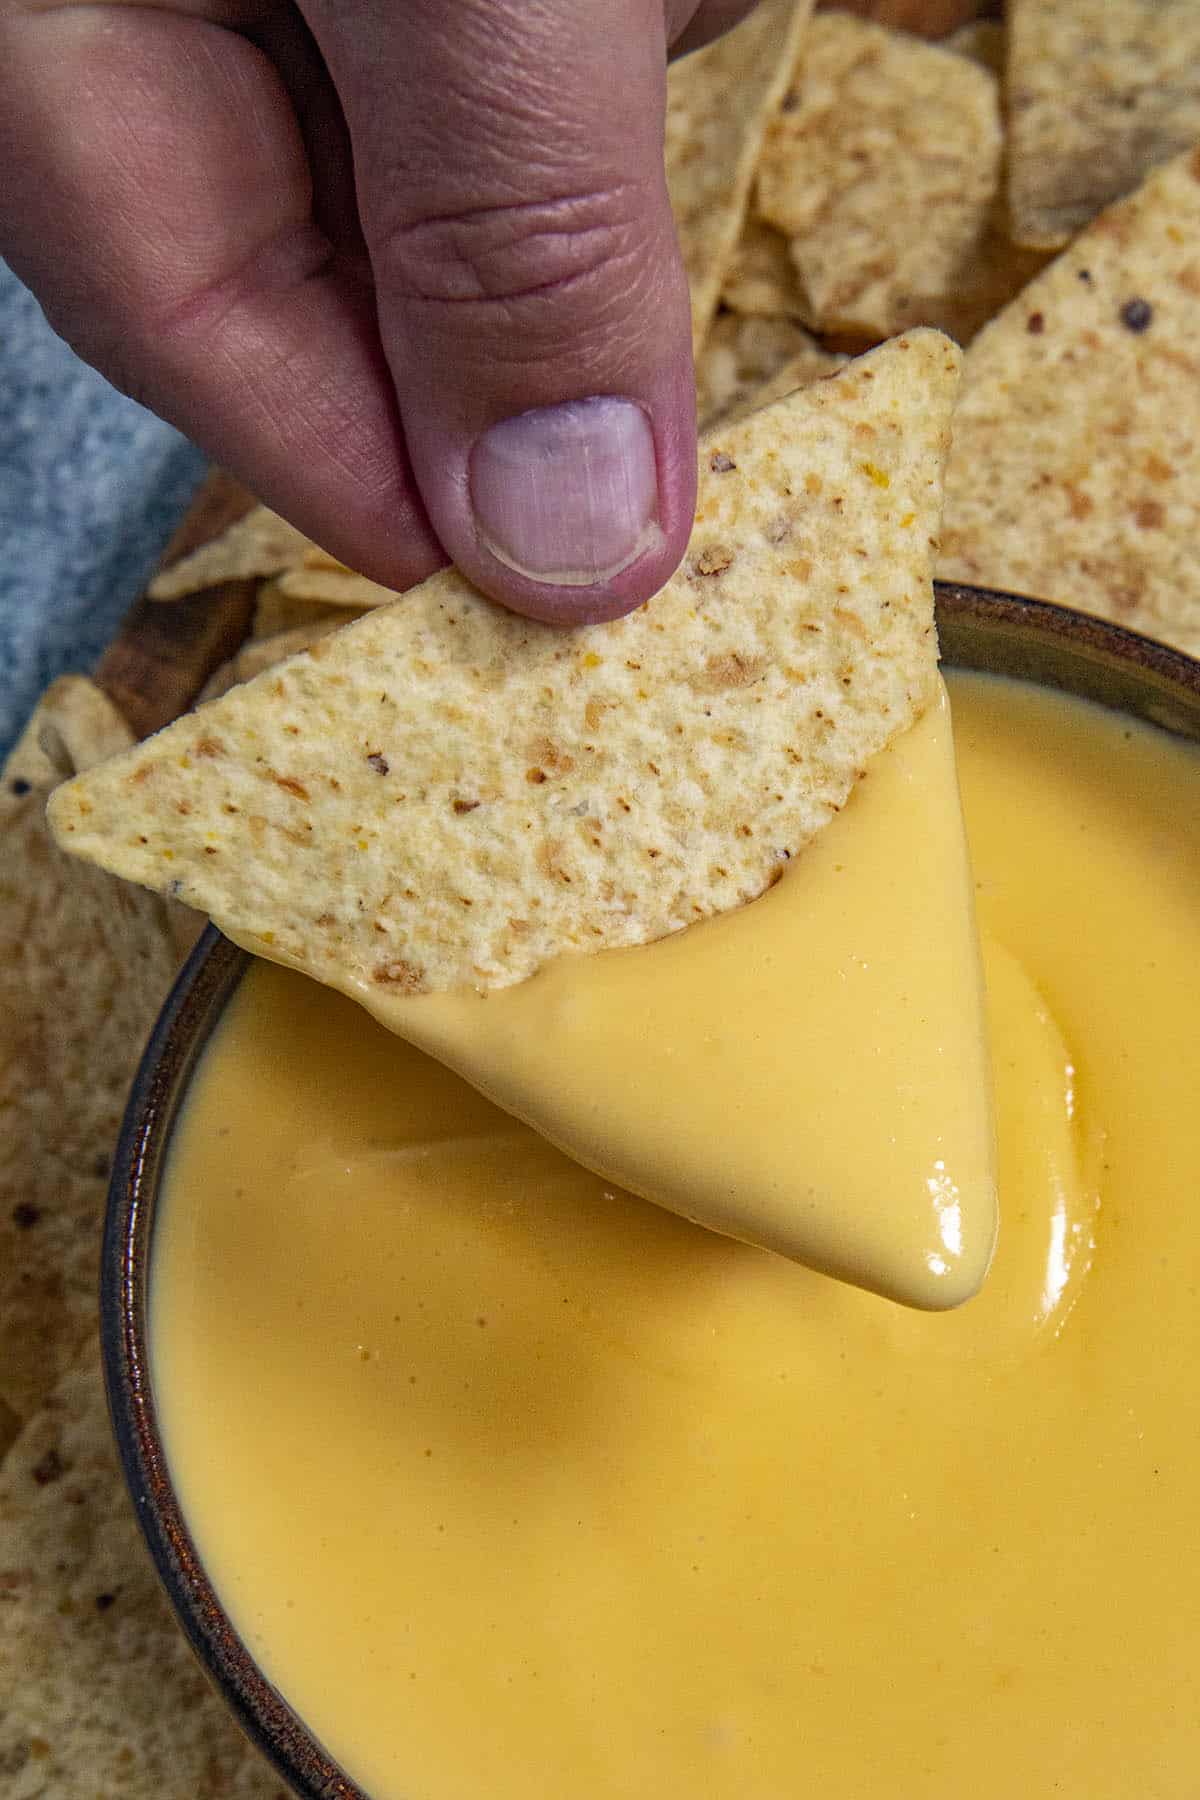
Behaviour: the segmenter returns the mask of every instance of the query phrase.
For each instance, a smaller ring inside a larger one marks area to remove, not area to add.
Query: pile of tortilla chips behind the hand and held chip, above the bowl
[[[937,572],[1195,652],[1200,7],[981,11],[768,0],[673,67],[702,425],[946,331],[966,369]],[[864,13],[964,23],[934,43]],[[394,598],[266,508],[151,592],[234,576],[261,578],[261,644],[212,693]]]

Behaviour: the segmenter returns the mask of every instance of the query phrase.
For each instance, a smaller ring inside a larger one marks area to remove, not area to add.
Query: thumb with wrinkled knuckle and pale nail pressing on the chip
[[[628,612],[680,562],[696,484],[662,0],[306,11],[437,536],[531,617]]]

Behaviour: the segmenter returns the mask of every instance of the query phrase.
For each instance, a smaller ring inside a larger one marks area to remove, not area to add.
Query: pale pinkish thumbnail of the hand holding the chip
[[[482,544],[509,569],[592,587],[662,542],[655,436],[631,400],[597,394],[502,419],[471,452]]]

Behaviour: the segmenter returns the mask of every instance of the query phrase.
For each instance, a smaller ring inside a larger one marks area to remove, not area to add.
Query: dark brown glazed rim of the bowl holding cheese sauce
[[[1130,711],[1200,742],[1200,661],[1106,619],[997,589],[934,583],[943,661]],[[113,1157],[101,1246],[101,1357],[117,1451],[171,1607],[214,1687],[304,1800],[371,1800],[266,1679],[225,1613],[175,1492],[153,1395],[148,1291],[155,1204],[175,1120],[252,958],[207,925],[142,1055]]]

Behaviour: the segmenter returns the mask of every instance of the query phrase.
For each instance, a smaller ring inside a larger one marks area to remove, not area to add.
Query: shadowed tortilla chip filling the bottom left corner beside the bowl
[[[286,1800],[158,1588],[88,1348],[0,1472],[5,1800]]]

